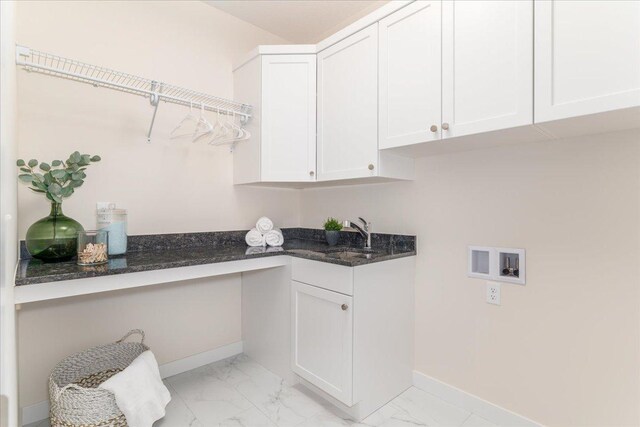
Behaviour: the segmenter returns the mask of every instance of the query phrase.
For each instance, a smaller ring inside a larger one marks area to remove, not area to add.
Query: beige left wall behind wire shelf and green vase
[[[20,2],[19,44],[168,83],[233,97],[232,62],[258,44],[284,40],[201,2]],[[295,190],[237,188],[228,148],[167,136],[186,109],[161,104],[151,144],[147,100],[22,70],[18,155],[100,154],[64,211],[94,227],[95,202],[129,211],[131,234],[246,229],[260,215],[299,222]],[[19,188],[19,234],[48,213]],[[241,339],[239,277],[199,280],[56,302],[19,312],[20,405],[47,398],[63,356],[144,328],[160,363]]]

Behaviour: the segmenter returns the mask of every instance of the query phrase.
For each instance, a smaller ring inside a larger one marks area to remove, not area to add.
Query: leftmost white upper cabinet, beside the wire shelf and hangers
[[[235,183],[315,181],[316,55],[258,55],[234,81],[236,99],[254,106]]]

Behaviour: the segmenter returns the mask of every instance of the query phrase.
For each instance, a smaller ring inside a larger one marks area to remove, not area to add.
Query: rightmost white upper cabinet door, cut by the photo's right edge
[[[535,2],[535,121],[640,105],[640,2]]]

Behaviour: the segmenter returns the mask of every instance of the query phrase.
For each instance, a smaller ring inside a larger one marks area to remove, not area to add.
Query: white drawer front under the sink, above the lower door
[[[293,258],[293,280],[345,295],[353,295],[353,268],[326,262]]]

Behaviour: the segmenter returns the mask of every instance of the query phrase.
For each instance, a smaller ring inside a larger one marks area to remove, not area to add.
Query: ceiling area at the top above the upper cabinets
[[[205,0],[290,43],[314,44],[388,0]]]

